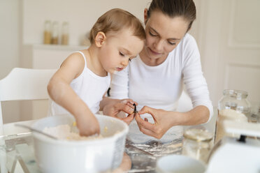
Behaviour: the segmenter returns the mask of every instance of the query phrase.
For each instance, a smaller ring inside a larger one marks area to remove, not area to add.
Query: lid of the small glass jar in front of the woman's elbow
[[[184,137],[197,142],[209,142],[213,138],[213,134],[208,130],[200,128],[189,128],[185,130]]]

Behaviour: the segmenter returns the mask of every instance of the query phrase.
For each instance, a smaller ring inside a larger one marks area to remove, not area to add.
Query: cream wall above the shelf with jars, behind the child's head
[[[43,43],[45,20],[69,23],[70,45],[79,45],[94,22],[111,8],[123,8],[143,21],[143,10],[150,0],[24,0],[23,40],[24,44]]]

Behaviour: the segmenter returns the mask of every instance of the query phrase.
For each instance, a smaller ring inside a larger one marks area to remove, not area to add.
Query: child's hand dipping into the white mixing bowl
[[[90,136],[100,133],[99,121],[97,121],[93,114],[91,114],[91,116],[87,116],[86,114],[78,116],[76,122],[81,136]]]

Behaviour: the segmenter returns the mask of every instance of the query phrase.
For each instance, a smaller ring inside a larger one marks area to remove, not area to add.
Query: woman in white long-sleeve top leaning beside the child
[[[144,12],[145,47],[126,69],[113,76],[111,98],[130,98],[143,107],[135,119],[145,135],[160,139],[174,126],[206,123],[212,116],[198,47],[187,33],[195,18],[192,0],[153,0]],[[183,84],[194,108],[176,112]],[[108,100],[104,98],[101,103],[104,114],[115,116],[120,110],[133,113],[129,104],[120,100],[106,104]],[[154,122],[147,121],[143,116],[146,113]],[[133,114],[124,121],[129,123],[132,119]]]

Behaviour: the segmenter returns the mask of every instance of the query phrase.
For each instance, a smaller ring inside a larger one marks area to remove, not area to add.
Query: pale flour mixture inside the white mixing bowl
[[[68,124],[44,128],[43,132],[53,135],[59,140],[96,140],[103,138],[102,135],[93,135],[89,137],[80,136],[79,133],[73,132],[73,130],[71,130],[71,126]]]

